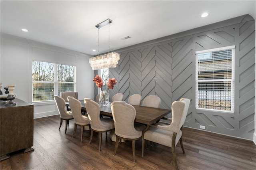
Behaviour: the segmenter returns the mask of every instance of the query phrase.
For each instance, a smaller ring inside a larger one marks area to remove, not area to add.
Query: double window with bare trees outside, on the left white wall
[[[42,61],[32,61],[32,102],[52,101],[54,94],[74,91],[76,67]]]

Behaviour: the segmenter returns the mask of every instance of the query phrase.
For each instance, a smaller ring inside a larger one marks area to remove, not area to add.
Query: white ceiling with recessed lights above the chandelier
[[[110,24],[112,51],[244,14],[255,19],[255,2],[1,0],[1,32],[96,55],[98,28],[95,25],[108,18],[113,21]],[[203,12],[209,16],[201,18]],[[122,40],[126,36],[131,38]],[[99,29],[99,40],[99,53],[107,52],[108,26]]]

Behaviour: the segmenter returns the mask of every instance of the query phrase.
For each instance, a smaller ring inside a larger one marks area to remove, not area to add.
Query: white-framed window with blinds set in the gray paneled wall
[[[234,46],[196,52],[196,109],[234,112]]]

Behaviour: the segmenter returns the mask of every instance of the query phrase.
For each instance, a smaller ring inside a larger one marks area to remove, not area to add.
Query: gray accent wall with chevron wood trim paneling
[[[149,33],[150,34],[150,33]],[[195,109],[195,51],[235,45],[234,113]],[[255,24],[244,15],[117,50],[120,61],[110,69],[118,84],[110,97],[123,93],[158,95],[161,108],[186,97],[191,100],[184,126],[252,140],[255,100]],[[96,72],[95,72],[96,73]],[[97,74],[97,73],[96,73]],[[98,93],[95,88],[95,94]],[[95,95],[96,96],[96,95]],[[142,102],[143,105],[143,102]],[[171,115],[168,115],[171,117]]]

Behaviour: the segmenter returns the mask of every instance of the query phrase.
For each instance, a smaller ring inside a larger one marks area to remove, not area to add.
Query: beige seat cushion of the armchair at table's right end
[[[155,127],[150,127],[144,133],[144,139],[162,144],[164,146],[172,147],[172,135],[173,135],[173,132],[171,132],[171,131],[162,130],[160,128],[155,128]],[[179,130],[176,135],[175,146],[178,143],[178,141],[180,140],[181,136],[182,136],[182,131]]]

